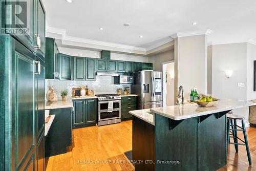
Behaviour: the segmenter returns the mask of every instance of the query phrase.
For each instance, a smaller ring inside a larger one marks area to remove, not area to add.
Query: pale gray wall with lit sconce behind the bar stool
[[[247,62],[247,42],[212,45],[212,94],[223,98],[247,100]],[[252,67],[253,65],[250,70]],[[226,77],[226,70],[233,71],[230,78]],[[239,82],[245,83],[245,87],[238,87]],[[248,108],[233,112],[244,116],[245,122],[248,123]]]

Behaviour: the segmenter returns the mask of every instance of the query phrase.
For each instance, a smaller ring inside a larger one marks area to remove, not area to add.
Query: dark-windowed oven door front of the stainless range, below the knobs
[[[99,121],[121,118],[121,100],[113,101],[113,112],[108,112],[109,101],[99,101]]]

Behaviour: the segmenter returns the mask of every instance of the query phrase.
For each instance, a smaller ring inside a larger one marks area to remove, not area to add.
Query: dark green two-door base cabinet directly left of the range
[[[93,126],[97,119],[97,99],[73,100],[73,128]]]

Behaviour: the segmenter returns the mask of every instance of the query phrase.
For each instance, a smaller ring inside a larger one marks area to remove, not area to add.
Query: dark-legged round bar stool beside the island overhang
[[[237,125],[237,120],[242,121],[242,127]],[[231,126],[231,129],[230,129],[230,126]],[[240,129],[238,129],[238,127]],[[238,137],[238,133],[237,133],[238,131],[243,131],[244,141]],[[234,142],[230,142],[230,138],[233,138]],[[238,143],[238,139],[243,143]],[[251,155],[250,155],[250,149],[249,149],[249,144],[247,140],[245,125],[244,125],[244,117],[240,115],[234,115],[232,114],[232,112],[227,114],[227,144],[228,143],[234,144],[234,147],[236,148],[236,153],[238,153],[238,145],[245,145],[248,161],[249,161],[249,164],[251,165]]]

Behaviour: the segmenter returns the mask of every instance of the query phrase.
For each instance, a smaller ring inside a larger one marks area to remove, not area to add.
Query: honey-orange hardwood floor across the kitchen
[[[242,134],[239,134],[243,137]],[[236,154],[228,148],[227,165],[223,170],[256,170],[256,129],[247,129],[252,165],[248,164],[245,146]],[[134,170],[124,152],[132,149],[132,121],[91,126],[73,130],[72,151],[49,158],[46,171],[51,170]]]

